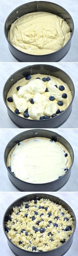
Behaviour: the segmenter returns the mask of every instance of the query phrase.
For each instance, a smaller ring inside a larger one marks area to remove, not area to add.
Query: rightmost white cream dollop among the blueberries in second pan
[[[62,101],[63,102],[62,95],[54,84],[55,83],[52,80],[50,80],[47,84],[48,90],[49,90],[50,94],[52,96],[54,96],[57,101]]]

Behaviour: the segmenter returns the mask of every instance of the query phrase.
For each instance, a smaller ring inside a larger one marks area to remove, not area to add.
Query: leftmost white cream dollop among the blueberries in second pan
[[[13,94],[13,102],[16,109],[18,109],[20,113],[24,112],[28,108],[26,100],[23,97],[19,98],[17,93]]]

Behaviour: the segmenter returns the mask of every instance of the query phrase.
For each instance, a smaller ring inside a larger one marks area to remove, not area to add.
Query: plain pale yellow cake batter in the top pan
[[[44,55],[55,52],[70,39],[68,24],[48,12],[33,12],[21,16],[10,27],[8,39],[22,52]]]

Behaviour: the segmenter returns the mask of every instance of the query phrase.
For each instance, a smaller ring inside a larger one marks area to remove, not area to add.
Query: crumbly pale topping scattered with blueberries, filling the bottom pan
[[[73,229],[70,213],[62,205],[45,198],[35,198],[13,207],[5,228],[16,246],[35,253],[63,245]]]

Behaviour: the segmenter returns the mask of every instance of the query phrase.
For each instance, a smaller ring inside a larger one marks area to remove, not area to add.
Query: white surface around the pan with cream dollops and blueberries
[[[17,128],[10,120],[7,114],[7,108],[3,101],[3,87],[7,79],[17,70],[33,64],[43,63],[0,63],[0,128]],[[56,66],[65,71],[72,79],[75,87],[75,97],[73,100],[73,108],[68,120],[61,126],[61,128],[78,128],[78,63],[44,63]],[[38,127],[39,128],[39,127]],[[45,128],[45,127],[44,127]]]

